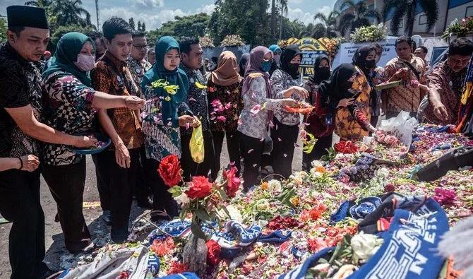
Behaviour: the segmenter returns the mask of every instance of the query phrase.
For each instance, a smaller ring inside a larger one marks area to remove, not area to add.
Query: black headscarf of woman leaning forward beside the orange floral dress
[[[354,97],[349,91],[353,83],[348,81],[354,73],[357,73],[357,69],[353,64],[344,63],[333,70],[328,81],[322,81],[318,93],[321,94],[322,103],[328,104],[329,112],[335,112],[340,100]]]

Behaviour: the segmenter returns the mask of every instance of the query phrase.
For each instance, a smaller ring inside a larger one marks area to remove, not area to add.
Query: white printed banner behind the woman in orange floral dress
[[[396,49],[394,43],[396,42],[397,38],[388,38],[388,40],[378,42],[383,47],[383,55],[381,55],[381,59],[379,60],[377,66],[384,67],[391,59],[396,57]],[[340,66],[343,63],[352,63],[353,55],[357,51],[359,47],[363,47],[365,45],[372,44],[371,42],[344,42],[340,44],[340,49],[338,49],[335,58],[333,59],[332,69],[335,67]]]

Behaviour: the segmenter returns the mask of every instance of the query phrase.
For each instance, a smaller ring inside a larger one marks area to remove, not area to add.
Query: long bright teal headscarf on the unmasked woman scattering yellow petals
[[[150,83],[159,79],[166,80],[170,85],[179,86],[179,90],[177,90],[176,94],[169,95],[169,97],[171,97],[170,101],[161,100],[162,119],[164,122],[166,122],[167,119],[172,119],[172,124],[176,126],[178,124],[177,108],[187,99],[189,81],[186,73],[179,69],[179,67],[174,69],[174,71],[169,71],[164,68],[164,56],[171,49],[177,49],[179,54],[181,53],[179,43],[173,37],[164,36],[157,41],[155,46],[156,62],[152,65],[152,68],[145,73],[143,81],[141,82],[141,88],[143,89],[143,92],[145,92],[146,86],[149,86]],[[163,88],[156,88],[155,93],[155,97],[168,95]]]

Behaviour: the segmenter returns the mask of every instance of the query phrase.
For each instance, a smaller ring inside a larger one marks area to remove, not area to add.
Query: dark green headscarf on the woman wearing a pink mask
[[[42,73],[42,78],[47,78],[56,71],[65,71],[78,78],[84,85],[91,86],[89,72],[80,71],[74,65],[74,62],[77,61],[77,55],[80,53],[80,49],[82,49],[85,42],[90,42],[95,50],[95,43],[90,37],[80,32],[64,34],[57,43],[51,65]]]

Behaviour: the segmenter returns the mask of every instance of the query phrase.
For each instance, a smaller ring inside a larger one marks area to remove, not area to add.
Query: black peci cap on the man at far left
[[[6,8],[8,28],[24,26],[49,29],[44,8],[32,6],[8,6]]]

